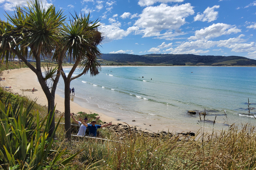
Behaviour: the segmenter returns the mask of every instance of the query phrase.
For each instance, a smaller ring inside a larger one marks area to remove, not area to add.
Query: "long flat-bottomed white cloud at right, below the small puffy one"
[[[205,29],[197,30],[195,32],[195,36],[191,36],[188,38],[189,40],[197,40],[197,39],[210,39],[215,37],[220,37],[222,35],[236,34],[241,32],[240,29],[237,29],[235,26],[231,26],[228,24],[217,23],[213,24]]]

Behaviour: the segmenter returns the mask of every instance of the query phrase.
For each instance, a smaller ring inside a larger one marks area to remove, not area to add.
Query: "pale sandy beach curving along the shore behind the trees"
[[[68,68],[68,67],[66,67]],[[5,78],[5,81],[1,81],[1,87],[11,87],[8,88],[12,93],[24,95],[28,97],[31,100],[37,99],[37,103],[40,105],[46,105],[47,106],[47,99],[45,97],[45,94],[43,93],[43,90],[37,80],[36,74],[31,71],[29,68],[21,68],[21,69],[12,69],[9,70],[9,74],[7,74],[7,71],[2,71],[2,78]],[[37,91],[32,93],[32,89],[35,88]],[[22,89],[24,91],[22,91]],[[30,90],[28,90],[30,89]],[[27,90],[27,91],[25,91]],[[63,93],[64,94],[64,93]],[[55,104],[56,104],[56,110],[59,112],[64,112],[64,98],[59,96],[58,94],[55,95]],[[100,115],[100,119],[103,122],[112,122],[113,124],[117,123],[127,123],[130,126],[137,126],[137,128],[140,128],[144,131],[149,132],[158,132],[158,131],[170,131],[170,132],[197,132],[195,129],[181,129],[170,125],[165,124],[157,124],[149,123],[146,120],[136,120],[135,122],[132,122],[132,120],[128,119],[121,119],[120,121],[117,121],[116,118],[111,117],[111,113],[104,113],[104,110],[101,110],[99,108],[85,108],[80,106],[79,104],[71,101],[70,102],[70,110],[71,113],[78,113],[78,112],[86,112],[89,113],[96,113]]]

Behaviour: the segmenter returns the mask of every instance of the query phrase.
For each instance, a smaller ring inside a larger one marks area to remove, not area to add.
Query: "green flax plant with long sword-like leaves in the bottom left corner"
[[[0,100],[0,168],[41,169],[47,164],[51,168],[57,162],[64,166],[79,153],[60,162],[61,156],[67,152],[66,148],[51,150],[54,139],[53,134],[48,137],[49,114],[40,121],[38,111],[32,109],[34,102],[24,108],[23,100],[14,103],[6,105]],[[51,155],[55,156],[49,160]]]

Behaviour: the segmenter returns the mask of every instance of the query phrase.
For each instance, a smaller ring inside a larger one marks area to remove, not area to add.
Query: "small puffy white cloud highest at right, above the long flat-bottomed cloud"
[[[219,8],[219,5],[214,5],[213,7],[207,7],[206,10],[204,10],[203,14],[197,13],[197,15],[194,17],[194,21],[207,21],[212,22],[217,19],[218,12],[214,11],[214,9]]]

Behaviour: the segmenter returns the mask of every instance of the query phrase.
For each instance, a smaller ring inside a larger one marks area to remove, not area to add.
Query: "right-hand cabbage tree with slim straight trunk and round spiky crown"
[[[63,46],[67,50],[68,58],[75,61],[70,72],[66,76],[63,69],[61,75],[65,84],[65,130],[66,138],[71,138],[70,129],[70,82],[83,74],[88,73],[92,76],[99,73],[100,64],[97,60],[100,57],[98,45],[102,42],[103,36],[97,28],[100,26],[99,21],[90,21],[90,14],[86,17],[75,13],[70,20],[69,25],[64,27],[65,35],[63,36]],[[71,77],[75,69],[79,67],[81,73]]]

